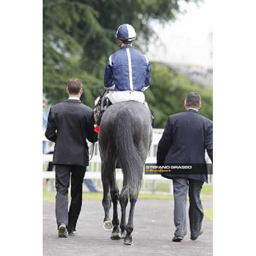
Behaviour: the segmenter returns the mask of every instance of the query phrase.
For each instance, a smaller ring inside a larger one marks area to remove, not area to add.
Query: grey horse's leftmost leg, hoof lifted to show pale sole
[[[103,186],[103,199],[102,199],[102,206],[104,208],[105,217],[104,217],[104,224],[103,228],[105,231],[112,231],[113,225],[111,223],[111,218],[109,217],[109,210],[111,208],[111,198],[110,198],[110,182],[108,180],[108,170],[102,164],[102,186]]]

